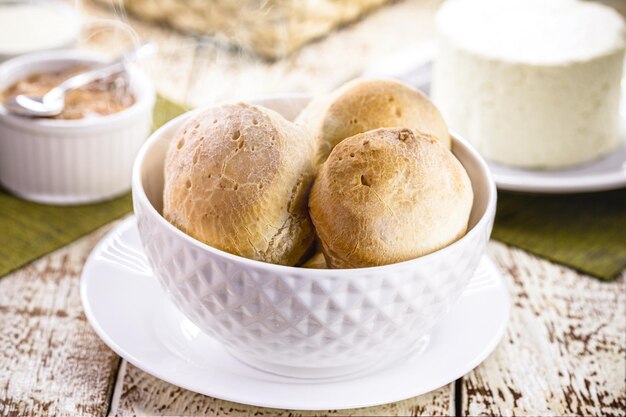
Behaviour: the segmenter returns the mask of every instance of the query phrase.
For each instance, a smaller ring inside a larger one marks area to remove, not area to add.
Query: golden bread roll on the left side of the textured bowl
[[[314,238],[307,212],[313,149],[306,129],[269,109],[205,110],[170,143],[163,215],[218,249],[295,265]]]

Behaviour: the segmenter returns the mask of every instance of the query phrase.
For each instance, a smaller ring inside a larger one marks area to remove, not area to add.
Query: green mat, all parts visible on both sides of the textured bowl
[[[155,127],[184,109],[159,98]],[[500,192],[493,238],[603,280],[626,268],[626,189],[566,196]],[[0,277],[130,212],[130,195],[59,207],[0,191]]]

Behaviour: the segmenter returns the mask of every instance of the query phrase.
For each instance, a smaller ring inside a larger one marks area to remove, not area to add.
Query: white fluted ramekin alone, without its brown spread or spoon
[[[49,51],[0,65],[0,90],[36,72],[106,62],[85,51]],[[130,188],[132,166],[150,133],[155,91],[130,68],[136,102],[119,113],[78,120],[31,119],[0,105],[0,183],[28,200],[80,204],[105,200]]]

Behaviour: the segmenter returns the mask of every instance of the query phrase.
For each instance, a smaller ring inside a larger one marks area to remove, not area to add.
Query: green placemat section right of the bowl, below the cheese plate
[[[626,188],[570,195],[500,191],[492,237],[611,280],[626,268]]]

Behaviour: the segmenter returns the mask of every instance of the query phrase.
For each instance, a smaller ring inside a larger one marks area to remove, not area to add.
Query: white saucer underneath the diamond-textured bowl
[[[459,301],[416,351],[341,378],[278,376],[239,362],[170,303],[148,266],[134,217],[89,256],[81,299],[98,336],[145,372],[212,397],[296,410],[374,406],[446,385],[493,351],[510,309],[502,278],[485,257]]]

